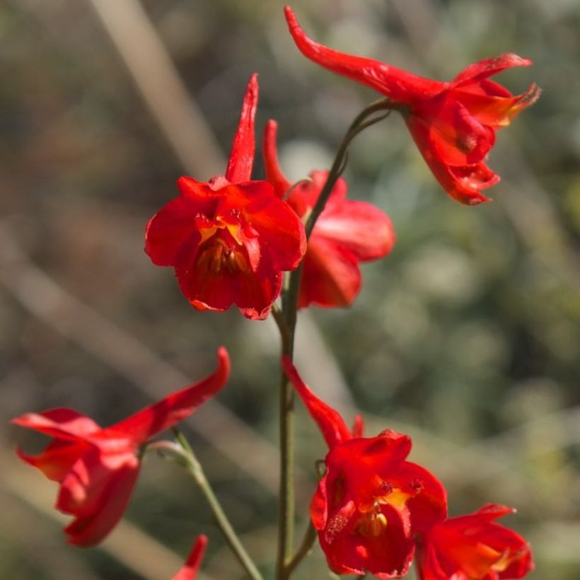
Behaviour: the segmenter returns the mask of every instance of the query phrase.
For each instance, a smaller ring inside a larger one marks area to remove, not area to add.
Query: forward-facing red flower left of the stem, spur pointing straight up
[[[267,181],[250,181],[254,161],[257,76],[245,93],[225,176],[207,183],[182,177],[180,197],[149,221],[145,251],[158,266],[175,267],[180,288],[198,310],[236,304],[266,318],[282,272],[306,251],[304,227]]]

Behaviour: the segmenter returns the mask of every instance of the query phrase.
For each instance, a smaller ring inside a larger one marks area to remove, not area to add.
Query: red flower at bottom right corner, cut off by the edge
[[[420,580],[500,580],[533,570],[526,540],[493,523],[515,510],[489,504],[467,516],[437,523],[420,543]]]

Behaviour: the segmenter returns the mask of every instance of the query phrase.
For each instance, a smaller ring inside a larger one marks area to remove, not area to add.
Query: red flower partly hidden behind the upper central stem
[[[267,180],[279,197],[302,219],[308,219],[318,201],[328,171],[313,171],[310,180],[291,188],[279,167],[276,146],[277,123],[270,120],[264,132]],[[339,178],[325,209],[318,217],[304,255],[298,308],[349,306],[361,287],[359,262],[376,260],[395,243],[393,224],[380,209],[347,199],[347,182]]]

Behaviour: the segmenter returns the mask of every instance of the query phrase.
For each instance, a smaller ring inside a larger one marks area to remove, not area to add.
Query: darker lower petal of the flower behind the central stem
[[[350,250],[315,232],[304,256],[298,308],[350,306],[361,288],[358,261]]]

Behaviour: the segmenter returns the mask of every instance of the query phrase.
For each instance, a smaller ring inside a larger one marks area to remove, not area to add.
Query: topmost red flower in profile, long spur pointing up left
[[[487,77],[511,66],[532,62],[502,54],[470,64],[451,82],[432,81],[373,59],[337,52],[314,42],[300,28],[291,8],[285,8],[291,35],[301,52],[337,74],[374,88],[402,112],[407,127],[444,190],[463,204],[487,201],[481,190],[499,181],[485,164],[495,132],[540,95],[532,84],[512,95]]]

